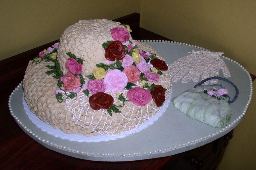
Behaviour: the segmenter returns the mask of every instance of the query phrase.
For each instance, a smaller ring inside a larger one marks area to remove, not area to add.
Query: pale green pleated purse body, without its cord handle
[[[174,107],[196,119],[216,128],[228,125],[232,111],[228,103],[228,97],[218,100],[204,93],[204,88],[212,89],[210,85],[200,85],[189,89],[172,99]],[[217,89],[220,86],[214,86]]]

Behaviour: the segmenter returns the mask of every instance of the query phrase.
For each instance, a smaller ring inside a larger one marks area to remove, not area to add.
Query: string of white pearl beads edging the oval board
[[[176,44],[181,44],[181,45],[186,45],[186,46],[192,46],[192,47],[195,47],[195,48],[200,48],[202,50],[207,50],[205,48],[202,48],[202,47],[198,47],[198,46],[194,46],[194,45],[190,45],[190,44],[185,44],[185,43],[180,43],[180,42],[176,42],[176,41],[161,41],[161,40],[140,40],[141,42],[164,42],[164,43],[176,43]],[[43,142],[44,144],[48,144],[48,145],[51,145],[55,148],[59,148],[59,149],[62,149],[62,150],[65,150],[65,151],[68,151],[68,152],[72,152],[72,153],[76,153],[76,154],[80,154],[80,155],[85,155],[85,156],[94,156],[94,157],[130,157],[130,156],[140,156],[140,155],[151,155],[151,154],[158,154],[158,153],[163,153],[163,152],[168,152],[168,151],[171,151],[171,150],[174,150],[174,149],[178,149],[178,148],[181,148],[181,147],[184,147],[184,146],[187,146],[187,145],[190,145],[190,144],[195,144],[195,143],[198,143],[198,142],[201,142],[201,141],[204,141],[204,140],[207,140],[208,138],[210,137],[213,137],[213,136],[216,136],[216,135],[219,135],[220,133],[228,130],[228,129],[233,129],[233,125],[238,122],[240,119],[242,119],[246,113],[246,110],[252,100],[252,78],[249,74],[249,72],[239,63],[237,63],[236,61],[234,61],[233,59],[230,59],[228,57],[225,57],[224,55],[222,55],[221,57],[227,59],[228,61],[231,61],[233,63],[236,63],[236,65],[240,66],[242,68],[242,70],[244,70],[247,75],[248,75],[248,78],[250,80],[250,95],[249,95],[249,100],[244,108],[244,111],[243,113],[238,116],[233,122],[230,122],[225,128],[222,128],[220,129],[219,131],[216,131],[215,133],[212,133],[212,134],[208,134],[208,135],[205,135],[203,137],[200,137],[198,139],[192,139],[190,141],[187,141],[186,143],[180,143],[180,144],[177,144],[177,145],[174,145],[174,146],[166,146],[165,148],[160,148],[158,150],[154,150],[154,151],[144,151],[144,152],[141,152],[141,151],[138,151],[137,153],[133,152],[133,153],[93,153],[93,152],[88,152],[88,151],[76,151],[72,148],[69,148],[69,147],[66,147],[66,146],[62,146],[61,144],[56,144],[56,143],[53,143],[51,141],[48,141],[48,140],[45,140],[43,139],[42,137],[39,137],[38,135],[36,135],[32,129],[26,127],[25,124],[23,124],[19,118],[13,113],[12,111],[12,96],[13,94],[19,90],[19,87],[22,85],[22,81],[21,83],[12,91],[11,95],[9,96],[9,101],[8,101],[8,107],[9,107],[9,110],[10,110],[10,113],[11,115],[13,116],[13,118],[16,120],[16,122],[18,124],[20,124],[20,126],[25,129],[25,131],[27,131],[29,134],[31,134],[34,138],[36,138],[37,140]]]

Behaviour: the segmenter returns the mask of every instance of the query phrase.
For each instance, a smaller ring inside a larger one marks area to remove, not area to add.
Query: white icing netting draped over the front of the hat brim
[[[169,88],[165,92],[165,98],[167,99],[171,92],[170,72],[165,71],[157,84],[163,86],[169,85]],[[140,86],[141,83],[137,82],[136,85]],[[66,99],[65,107],[73,115],[75,124],[84,129],[103,135],[122,134],[123,131],[138,128],[141,123],[149,120],[151,116],[155,116],[164,106],[156,107],[152,99],[146,106],[141,107],[135,105],[129,101],[127,92],[128,90],[125,89],[118,92],[118,94],[123,94],[125,100],[128,101],[125,101],[122,107],[118,107],[121,113],[112,112],[112,116],[109,115],[106,109],[100,109],[99,111],[92,110],[89,104],[89,97],[82,90],[77,94],[76,98]],[[107,90],[106,93],[113,96],[116,106],[123,104],[118,100],[116,92]]]

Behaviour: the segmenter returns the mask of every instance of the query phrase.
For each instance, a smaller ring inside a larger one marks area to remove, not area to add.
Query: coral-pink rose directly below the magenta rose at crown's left
[[[80,83],[80,77],[78,76],[77,78],[72,74],[71,72],[68,71],[65,79],[63,80],[63,86],[66,91],[71,91],[76,87],[79,87],[81,85]]]

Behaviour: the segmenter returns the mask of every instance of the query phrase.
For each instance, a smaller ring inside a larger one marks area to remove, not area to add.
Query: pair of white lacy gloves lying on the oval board
[[[226,63],[220,58],[221,52],[211,51],[194,51],[191,54],[181,57],[172,64],[169,64],[171,69],[171,77],[173,82],[181,79],[182,83],[187,83],[191,79],[198,82],[201,77],[202,80],[219,76],[219,71],[225,77],[230,77]],[[218,80],[210,80],[211,84],[216,84]],[[208,85],[209,81],[205,82]]]

